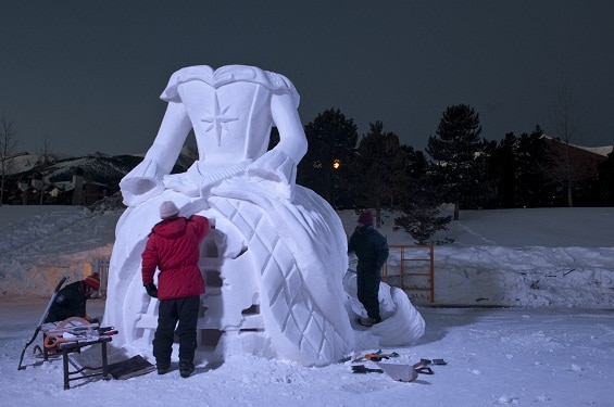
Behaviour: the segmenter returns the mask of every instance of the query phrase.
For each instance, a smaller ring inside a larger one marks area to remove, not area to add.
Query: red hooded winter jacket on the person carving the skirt
[[[142,252],[142,282],[158,276],[158,298],[183,298],[204,293],[204,280],[198,267],[200,242],[209,232],[209,219],[193,215],[163,220],[151,230]]]

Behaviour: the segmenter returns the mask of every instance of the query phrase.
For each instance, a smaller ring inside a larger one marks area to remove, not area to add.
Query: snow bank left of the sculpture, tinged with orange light
[[[78,206],[0,207],[0,293],[48,296],[60,278],[80,280],[108,259],[122,211]]]

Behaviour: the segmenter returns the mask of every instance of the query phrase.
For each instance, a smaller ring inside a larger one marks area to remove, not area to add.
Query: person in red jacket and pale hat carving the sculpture
[[[160,217],[162,221],[151,230],[141,255],[145,289],[160,301],[153,356],[158,374],[166,373],[176,333],[179,373],[188,378],[195,370],[196,327],[200,295],[204,294],[204,280],[198,267],[200,242],[209,232],[210,224],[203,216],[179,216],[179,209],[171,201],[160,205]],[[153,282],[156,268],[160,270],[158,287]]]

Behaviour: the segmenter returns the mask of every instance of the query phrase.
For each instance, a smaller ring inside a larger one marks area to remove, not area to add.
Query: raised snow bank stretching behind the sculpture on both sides
[[[61,276],[83,278],[110,257],[121,214],[0,207],[0,295],[48,296]],[[339,216],[351,233],[358,215]],[[393,217],[380,229],[388,242],[412,244]],[[454,242],[435,246],[434,305],[614,308],[612,230],[611,207],[462,211],[444,233]]]

